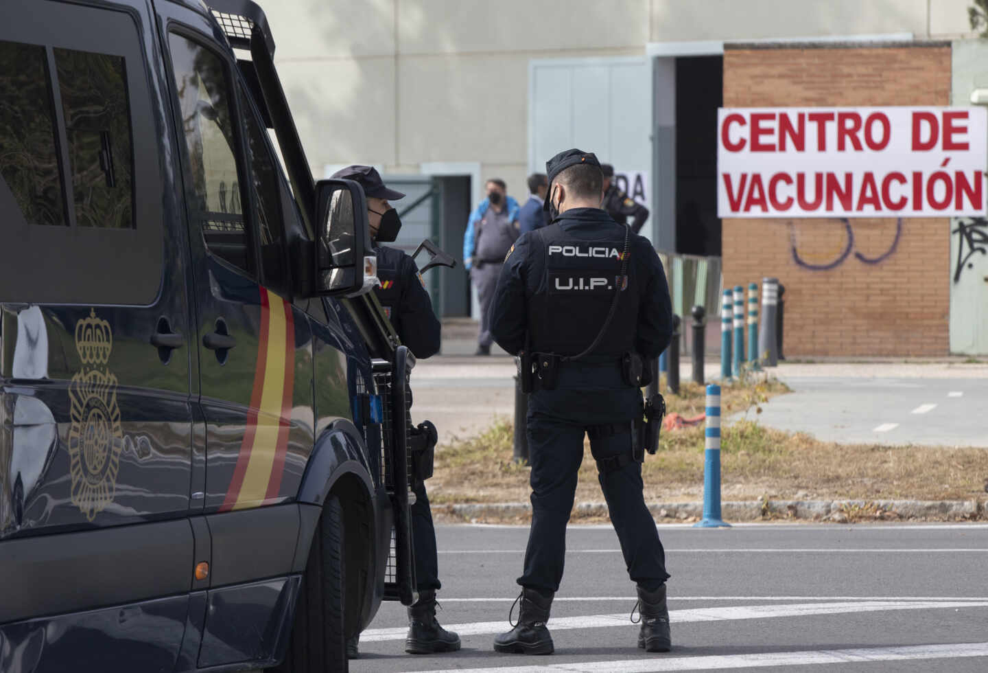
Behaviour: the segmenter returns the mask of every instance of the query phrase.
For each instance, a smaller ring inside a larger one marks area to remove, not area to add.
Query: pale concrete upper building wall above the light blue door
[[[531,59],[648,42],[967,32],[967,0],[260,0],[309,163],[479,162],[525,196]],[[548,158],[548,157],[545,157]]]

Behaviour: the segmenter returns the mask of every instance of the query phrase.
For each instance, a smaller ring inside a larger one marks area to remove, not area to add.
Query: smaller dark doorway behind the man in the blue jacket
[[[439,245],[456,258],[455,269],[438,269],[442,275],[443,316],[470,314],[470,284],[463,270],[463,233],[470,216],[470,177],[441,176],[443,204]]]

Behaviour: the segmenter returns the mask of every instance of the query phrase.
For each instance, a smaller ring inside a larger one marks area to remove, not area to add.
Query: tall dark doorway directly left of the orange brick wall
[[[676,59],[676,252],[720,256],[717,108],[723,56]]]

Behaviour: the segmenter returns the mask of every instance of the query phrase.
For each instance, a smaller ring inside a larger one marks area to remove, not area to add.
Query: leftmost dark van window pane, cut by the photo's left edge
[[[0,42],[0,175],[31,224],[67,225],[43,46]]]

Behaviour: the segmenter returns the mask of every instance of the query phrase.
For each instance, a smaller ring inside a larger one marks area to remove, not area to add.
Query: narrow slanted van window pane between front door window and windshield
[[[257,203],[258,239],[261,243],[261,266],[264,284],[276,290],[288,290],[285,269],[285,234],[282,211],[278,203],[278,174],[265,135],[257,121],[250,99],[239,88],[240,110],[250,164],[250,184]]]

